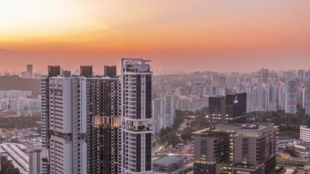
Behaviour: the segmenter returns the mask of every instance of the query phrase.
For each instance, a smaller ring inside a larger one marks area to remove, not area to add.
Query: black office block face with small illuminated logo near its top
[[[226,115],[228,123],[245,123],[246,93],[226,94]]]

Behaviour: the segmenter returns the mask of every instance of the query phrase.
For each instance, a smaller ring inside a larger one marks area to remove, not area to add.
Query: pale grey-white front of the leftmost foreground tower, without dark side
[[[50,173],[86,173],[86,118],[83,79],[49,77]]]

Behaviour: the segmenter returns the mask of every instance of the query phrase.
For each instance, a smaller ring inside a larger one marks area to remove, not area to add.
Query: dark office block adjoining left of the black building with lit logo
[[[211,124],[225,123],[225,96],[209,97],[209,113],[206,115]]]

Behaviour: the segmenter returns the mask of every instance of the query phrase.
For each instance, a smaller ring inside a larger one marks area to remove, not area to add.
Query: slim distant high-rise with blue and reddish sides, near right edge
[[[286,80],[285,113],[295,114],[297,112],[297,80]]]

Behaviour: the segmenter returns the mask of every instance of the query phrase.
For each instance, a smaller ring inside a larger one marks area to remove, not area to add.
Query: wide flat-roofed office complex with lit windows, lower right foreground
[[[194,174],[266,173],[275,169],[278,127],[218,124],[194,134]]]

